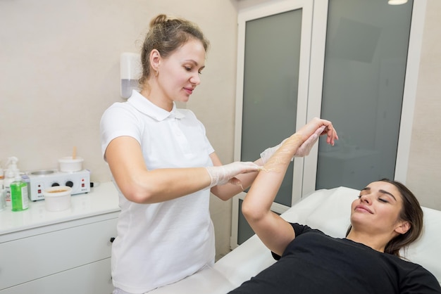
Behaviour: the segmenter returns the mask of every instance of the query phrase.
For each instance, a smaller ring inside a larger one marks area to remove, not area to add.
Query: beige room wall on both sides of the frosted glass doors
[[[264,0],[242,0],[241,8]],[[211,40],[202,84],[187,107],[206,125],[223,162],[233,158],[237,47],[235,0],[0,0],[0,162],[22,170],[85,158],[92,181],[108,181],[99,119],[119,96],[119,56],[137,51],[149,21],[173,13]],[[441,209],[441,1],[428,0],[411,156],[406,184]],[[405,119],[405,118],[404,118]],[[211,199],[218,255],[228,252],[231,205]]]

